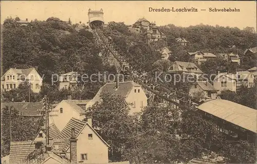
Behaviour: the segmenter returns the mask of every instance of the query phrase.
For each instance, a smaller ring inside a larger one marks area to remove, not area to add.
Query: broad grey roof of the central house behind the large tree
[[[98,93],[91,101],[92,102],[100,101],[101,100],[100,95],[102,93],[108,93],[108,92],[115,95],[120,95],[126,98],[127,95],[130,94],[134,86],[139,87],[140,85],[136,84],[133,81],[125,81],[125,82],[119,82],[118,88],[116,88],[116,83],[106,83],[98,90]]]

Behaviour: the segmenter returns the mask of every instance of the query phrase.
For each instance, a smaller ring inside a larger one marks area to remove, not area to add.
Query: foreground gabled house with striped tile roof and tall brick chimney
[[[93,129],[92,118],[87,122],[71,118],[53,140],[53,147],[64,150],[74,163],[108,163],[109,145]]]

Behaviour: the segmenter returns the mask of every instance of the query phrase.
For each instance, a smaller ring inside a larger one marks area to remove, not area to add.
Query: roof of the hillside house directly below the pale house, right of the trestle
[[[194,69],[187,69],[187,68],[194,68]],[[170,70],[169,72],[176,72],[176,71],[185,71],[185,72],[194,72],[194,73],[203,74],[203,71],[201,71],[194,63],[190,63],[190,62],[175,61],[173,63],[173,70]]]

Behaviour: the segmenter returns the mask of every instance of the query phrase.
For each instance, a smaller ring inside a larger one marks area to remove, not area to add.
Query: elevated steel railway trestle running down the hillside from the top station
[[[103,28],[94,26],[94,37],[99,46],[104,47],[103,57],[111,65],[117,69],[117,73],[130,75],[131,79],[140,84],[149,94],[149,103],[151,104],[155,96],[159,97],[166,104],[173,104],[177,111],[183,112],[196,112],[198,102],[192,100],[188,94],[177,92],[176,88],[170,88],[160,81],[154,79],[149,72],[144,72],[138,68],[138,64],[130,58],[130,54],[123,52],[113,42]]]

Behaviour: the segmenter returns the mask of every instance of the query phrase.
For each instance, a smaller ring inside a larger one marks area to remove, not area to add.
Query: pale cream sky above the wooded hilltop
[[[149,8],[197,8],[198,12],[149,12]],[[72,23],[88,22],[88,9],[103,9],[105,23],[124,22],[132,25],[139,18],[155,21],[157,26],[174,24],[188,27],[198,24],[254,27],[256,31],[255,1],[1,1],[1,24],[9,16],[22,20],[47,20],[58,17]],[[209,8],[237,8],[240,12],[209,12]],[[206,9],[201,11],[200,9]]]

